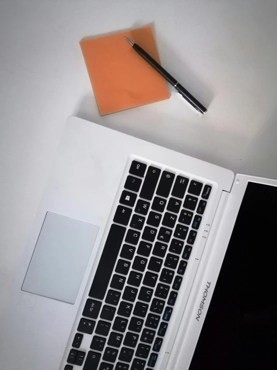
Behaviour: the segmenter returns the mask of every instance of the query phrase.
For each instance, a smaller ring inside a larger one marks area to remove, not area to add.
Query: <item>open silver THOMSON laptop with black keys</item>
[[[276,186],[69,117],[1,369],[275,369]]]

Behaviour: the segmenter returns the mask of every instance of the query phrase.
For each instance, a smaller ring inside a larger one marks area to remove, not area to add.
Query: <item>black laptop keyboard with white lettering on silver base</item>
[[[64,370],[155,366],[210,192],[132,161]]]

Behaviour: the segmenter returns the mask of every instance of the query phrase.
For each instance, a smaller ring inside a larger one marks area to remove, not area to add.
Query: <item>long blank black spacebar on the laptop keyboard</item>
[[[89,296],[103,299],[126,228],[112,224],[105,242],[97,270],[89,290]]]

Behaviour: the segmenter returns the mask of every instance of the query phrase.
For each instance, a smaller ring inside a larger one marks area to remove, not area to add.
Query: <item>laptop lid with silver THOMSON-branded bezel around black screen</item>
[[[276,207],[276,180],[236,176],[185,333],[182,368],[277,368]]]

